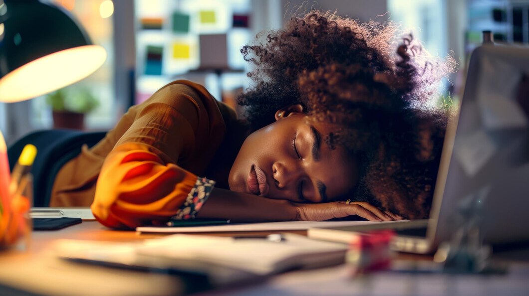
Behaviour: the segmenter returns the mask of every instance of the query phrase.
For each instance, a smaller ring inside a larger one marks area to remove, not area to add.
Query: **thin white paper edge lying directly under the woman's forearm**
[[[363,226],[377,223],[395,223],[395,221],[287,221],[268,223],[244,223],[213,226],[193,227],[138,227],[138,232],[156,233],[203,233],[203,232],[258,232],[258,231],[283,231],[307,230],[313,227],[329,228],[340,226]]]

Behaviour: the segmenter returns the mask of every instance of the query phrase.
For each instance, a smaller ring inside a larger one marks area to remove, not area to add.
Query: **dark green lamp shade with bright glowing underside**
[[[37,0],[0,0],[0,101],[21,101],[73,84],[106,51],[70,13]]]

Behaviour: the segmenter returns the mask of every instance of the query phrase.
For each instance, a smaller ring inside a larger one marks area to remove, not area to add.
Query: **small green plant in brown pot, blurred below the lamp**
[[[61,88],[46,96],[51,106],[53,128],[83,129],[85,114],[99,102],[88,88]]]

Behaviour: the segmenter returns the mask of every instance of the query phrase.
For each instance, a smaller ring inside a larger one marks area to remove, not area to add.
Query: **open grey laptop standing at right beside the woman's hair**
[[[307,235],[340,241],[344,231],[390,228],[397,233],[393,249],[427,254],[449,241],[462,220],[474,219],[487,243],[528,241],[528,83],[529,47],[475,49],[459,115],[446,129],[430,219],[314,228]]]

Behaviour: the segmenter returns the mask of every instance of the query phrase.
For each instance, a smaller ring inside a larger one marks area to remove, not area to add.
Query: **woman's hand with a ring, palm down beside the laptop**
[[[324,204],[295,204],[297,217],[300,221],[324,221],[332,218],[343,218],[357,215],[370,221],[393,221],[403,218],[382,211],[367,202],[354,201],[346,204],[344,201],[326,202]]]

